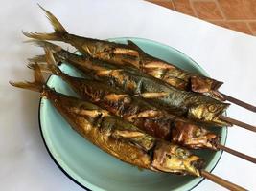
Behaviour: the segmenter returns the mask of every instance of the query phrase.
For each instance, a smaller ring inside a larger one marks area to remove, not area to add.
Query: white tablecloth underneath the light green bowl
[[[155,40],[196,60],[221,91],[256,105],[256,38],[206,23],[143,1],[37,1],[53,11],[69,32],[95,38],[121,36]],[[26,58],[41,53],[23,44],[21,30],[51,32],[35,1],[1,1],[0,7],[0,190],[82,190],[49,157],[40,138],[38,95],[12,88],[8,81],[30,79]],[[256,115],[232,106],[230,117],[256,124]],[[256,135],[229,129],[226,145],[256,156]],[[227,153],[213,171],[256,190],[256,166]],[[204,180],[195,190],[224,190]]]

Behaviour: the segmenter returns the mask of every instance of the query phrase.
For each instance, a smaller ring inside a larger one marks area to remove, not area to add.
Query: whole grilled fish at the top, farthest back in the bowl
[[[46,11],[42,7],[41,9],[46,12],[55,32],[24,32],[26,36],[40,40],[63,41],[73,45],[81,53],[89,54],[94,58],[110,61],[117,65],[133,66],[143,73],[159,78],[180,90],[207,93],[223,99],[218,92],[218,88],[222,85],[220,81],[179,69],[173,64],[145,53],[132,41],[128,41],[128,45],[124,45],[70,34],[50,11]]]

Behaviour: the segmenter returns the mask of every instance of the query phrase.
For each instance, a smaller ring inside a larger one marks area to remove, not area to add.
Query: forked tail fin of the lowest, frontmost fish
[[[25,81],[25,82],[13,82],[13,81],[9,81],[9,83],[17,88],[23,88],[23,89],[29,89],[35,92],[43,92],[44,90],[44,85],[45,85],[45,80],[43,78],[43,75],[40,71],[40,68],[37,64],[35,64],[35,73],[34,73],[34,78],[35,81],[34,82],[29,82],[29,81]]]

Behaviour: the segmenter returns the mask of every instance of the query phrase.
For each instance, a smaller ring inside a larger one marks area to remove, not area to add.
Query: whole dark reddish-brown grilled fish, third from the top
[[[44,72],[60,76],[82,98],[89,99],[110,113],[128,120],[155,138],[176,142],[193,149],[218,150],[220,137],[216,134],[186,118],[165,113],[139,97],[124,94],[88,76],[79,78],[64,74],[56,65],[53,54],[47,49],[45,51],[48,64],[40,64],[40,68]],[[33,63],[28,66],[35,69]]]

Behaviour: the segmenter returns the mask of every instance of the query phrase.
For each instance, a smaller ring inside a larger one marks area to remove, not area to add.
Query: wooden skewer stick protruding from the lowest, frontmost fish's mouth
[[[213,175],[205,170],[201,170],[201,177],[204,177],[207,180],[211,180],[232,191],[246,191],[246,189],[244,189],[243,187],[236,185],[230,181],[223,180],[220,177]]]

